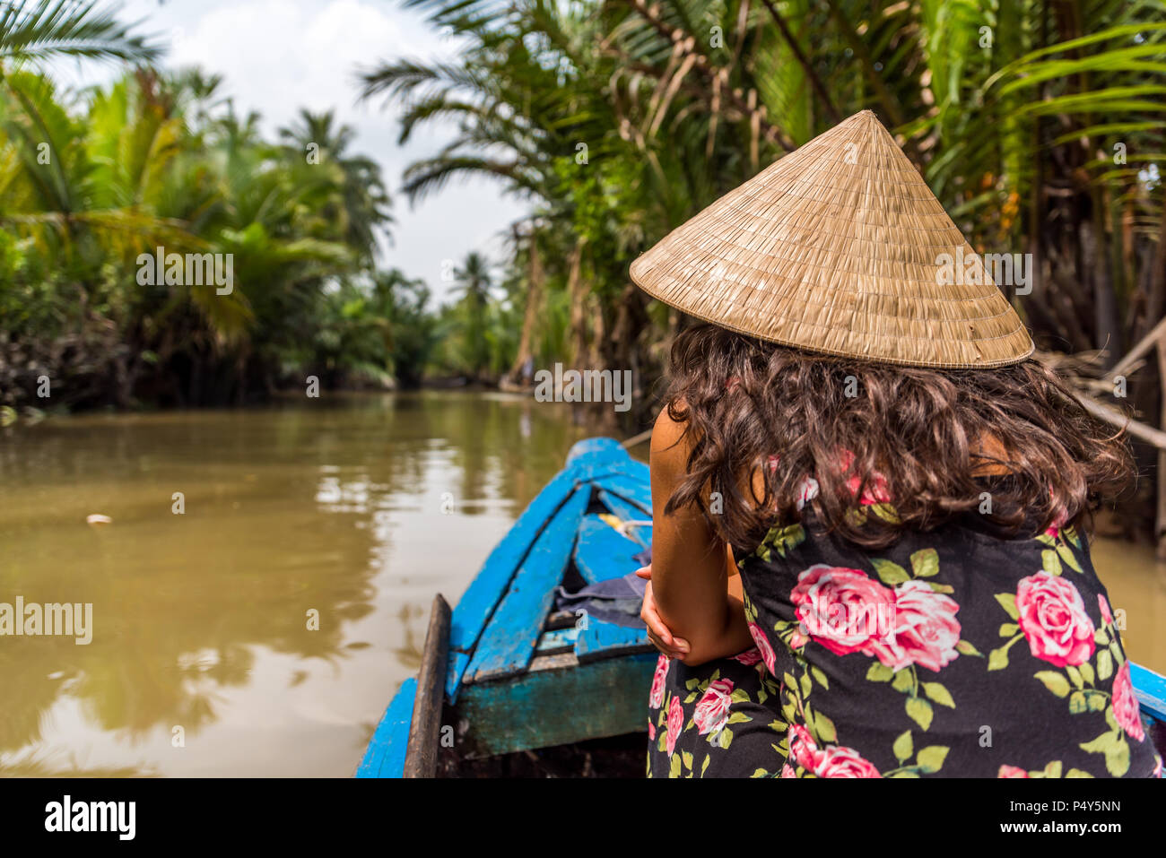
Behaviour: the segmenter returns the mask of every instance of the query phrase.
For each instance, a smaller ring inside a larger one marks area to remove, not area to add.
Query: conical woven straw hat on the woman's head
[[[687,314],[808,351],[908,366],[1019,363],[1032,339],[991,272],[967,274],[974,255],[863,111],[673,230],[631,275]]]

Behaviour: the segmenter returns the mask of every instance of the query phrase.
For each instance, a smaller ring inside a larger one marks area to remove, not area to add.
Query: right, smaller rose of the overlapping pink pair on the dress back
[[[894,647],[899,663],[919,664],[939,673],[958,653],[960,624],[955,619],[960,605],[955,599],[937,593],[922,581],[907,581],[894,591]],[[892,653],[888,652],[888,655]],[[886,661],[879,655],[879,660]]]

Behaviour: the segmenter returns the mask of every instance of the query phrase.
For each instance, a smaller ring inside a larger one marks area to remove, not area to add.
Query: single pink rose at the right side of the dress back
[[[1037,572],[1017,586],[1020,631],[1033,656],[1056,667],[1082,664],[1094,653],[1094,624],[1068,581]]]

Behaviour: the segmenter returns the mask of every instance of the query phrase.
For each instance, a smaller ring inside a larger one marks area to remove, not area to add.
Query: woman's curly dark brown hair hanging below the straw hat
[[[801,520],[807,476],[817,480],[812,508],[824,527],[877,548],[981,512],[984,492],[991,512],[982,521],[1003,534],[1088,528],[1100,500],[1132,473],[1123,434],[1033,359],[992,370],[891,366],[698,324],[673,344],[665,402],[689,448],[666,511],[695,504],[737,547]],[[884,488],[893,512],[854,514],[857,497],[878,499]],[[719,509],[707,504],[714,492]]]

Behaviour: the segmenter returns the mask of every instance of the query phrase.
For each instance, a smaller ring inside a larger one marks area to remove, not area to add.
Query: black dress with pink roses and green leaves
[[[807,506],[736,554],[756,649],[660,657],[649,776],[1161,775],[1072,528],[1009,540],[969,520],[868,556],[815,525]]]

